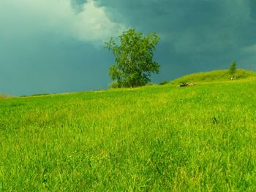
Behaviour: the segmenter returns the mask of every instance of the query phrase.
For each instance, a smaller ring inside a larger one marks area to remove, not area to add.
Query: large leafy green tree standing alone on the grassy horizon
[[[154,50],[159,37],[149,34],[143,37],[135,29],[124,31],[116,39],[106,42],[106,48],[115,55],[116,64],[109,68],[114,80],[112,87],[138,87],[150,82],[151,73],[159,73],[159,64],[153,61]]]

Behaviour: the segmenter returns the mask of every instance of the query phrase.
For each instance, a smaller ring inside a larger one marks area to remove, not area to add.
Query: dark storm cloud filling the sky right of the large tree
[[[233,60],[256,69],[255,52],[244,51],[256,44],[256,1],[98,0],[97,5],[107,7],[116,22],[146,33],[157,31],[161,45],[156,57],[170,77],[225,69]]]

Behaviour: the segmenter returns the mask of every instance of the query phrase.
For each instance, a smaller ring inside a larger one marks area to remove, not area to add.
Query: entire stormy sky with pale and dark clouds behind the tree
[[[255,0],[0,0],[0,93],[108,88],[104,42],[129,28],[160,37],[152,82],[232,61],[256,71]]]

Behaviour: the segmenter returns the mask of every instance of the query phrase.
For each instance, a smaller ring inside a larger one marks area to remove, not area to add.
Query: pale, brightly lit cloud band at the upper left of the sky
[[[80,5],[75,12],[69,0],[1,0],[1,35],[28,37],[51,32],[85,42],[102,42],[125,29],[112,22],[104,7],[94,1]]]

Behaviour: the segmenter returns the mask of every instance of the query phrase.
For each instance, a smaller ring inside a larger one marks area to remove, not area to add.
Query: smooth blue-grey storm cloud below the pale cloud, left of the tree
[[[18,39],[4,48],[0,46],[1,93],[67,93],[108,85],[105,60],[111,57],[104,50],[55,34],[30,38],[30,41]]]

